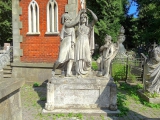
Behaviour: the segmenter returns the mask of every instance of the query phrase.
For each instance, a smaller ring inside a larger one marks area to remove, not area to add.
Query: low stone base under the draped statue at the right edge
[[[149,98],[148,96],[146,96],[143,92],[143,90],[138,90],[138,94],[147,102],[149,103],[156,103],[156,104],[160,104],[160,97],[158,98]]]

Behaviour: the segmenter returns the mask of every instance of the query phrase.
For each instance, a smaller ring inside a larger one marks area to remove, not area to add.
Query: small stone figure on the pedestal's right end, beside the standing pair
[[[118,52],[118,43],[112,43],[112,37],[106,35],[105,44],[100,47],[101,56],[97,59],[98,73],[97,76],[110,79],[110,64]]]

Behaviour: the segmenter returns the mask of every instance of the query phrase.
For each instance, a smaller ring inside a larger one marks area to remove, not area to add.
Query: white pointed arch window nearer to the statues
[[[56,0],[49,0],[47,4],[46,34],[58,34],[58,5]]]

